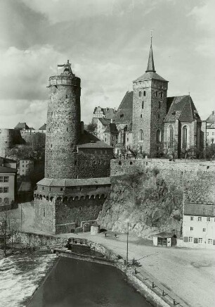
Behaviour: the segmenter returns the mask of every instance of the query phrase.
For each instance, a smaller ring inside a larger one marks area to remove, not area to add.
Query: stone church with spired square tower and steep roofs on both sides
[[[156,73],[151,37],[145,73],[133,81],[133,91],[126,92],[113,118],[119,131],[115,153],[130,144],[150,157],[181,158],[189,150],[194,156],[202,151],[206,125],[190,95],[167,96],[168,83]]]

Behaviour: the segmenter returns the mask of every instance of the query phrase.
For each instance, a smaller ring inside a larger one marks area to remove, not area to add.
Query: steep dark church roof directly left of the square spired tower
[[[113,120],[116,124],[118,123],[129,124],[132,122],[132,117],[133,117],[133,91],[126,92]]]

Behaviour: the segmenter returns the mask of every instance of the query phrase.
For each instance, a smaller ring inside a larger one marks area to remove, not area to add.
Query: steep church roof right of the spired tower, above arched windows
[[[168,97],[167,110],[168,108],[164,123],[174,123],[176,120],[192,123],[193,120],[201,120],[189,95]]]

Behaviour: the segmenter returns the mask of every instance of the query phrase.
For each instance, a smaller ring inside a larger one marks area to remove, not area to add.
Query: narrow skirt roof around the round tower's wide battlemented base
[[[110,177],[86,178],[86,179],[51,179],[44,178],[37,182],[46,187],[79,187],[83,185],[110,184]]]

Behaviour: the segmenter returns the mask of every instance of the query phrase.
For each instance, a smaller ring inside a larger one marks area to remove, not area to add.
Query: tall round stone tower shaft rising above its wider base
[[[77,178],[77,142],[81,134],[81,80],[69,61],[63,73],[49,78],[45,177]]]

